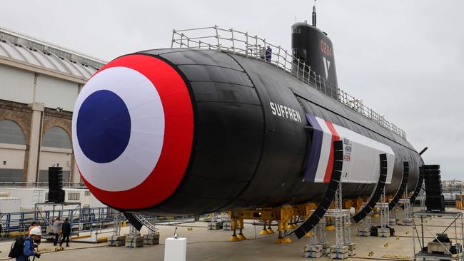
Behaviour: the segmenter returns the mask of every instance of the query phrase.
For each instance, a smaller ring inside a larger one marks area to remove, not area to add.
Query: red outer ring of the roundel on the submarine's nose
[[[122,56],[106,64],[94,76],[111,67],[132,68],[146,76],[156,87],[164,110],[163,148],[148,178],[130,190],[101,190],[82,175],[81,178],[91,193],[106,205],[123,210],[149,208],[166,200],[181,183],[186,171],[193,143],[191,98],[183,78],[159,58],[141,54]]]

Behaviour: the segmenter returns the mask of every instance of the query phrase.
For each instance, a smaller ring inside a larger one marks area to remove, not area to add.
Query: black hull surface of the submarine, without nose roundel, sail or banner
[[[398,190],[403,161],[410,166],[408,191],[415,188],[422,160],[407,140],[281,68],[221,51],[169,48],[136,54],[168,63],[185,81],[193,110],[191,154],[180,183],[162,202],[121,208],[102,200],[107,205],[153,215],[198,215],[317,201],[327,184],[303,178],[312,135],[306,114],[388,145],[395,163],[386,193]],[[281,116],[274,115],[277,106],[286,107]],[[162,187],[151,184],[153,191]],[[344,183],[343,196],[368,196],[374,187]]]

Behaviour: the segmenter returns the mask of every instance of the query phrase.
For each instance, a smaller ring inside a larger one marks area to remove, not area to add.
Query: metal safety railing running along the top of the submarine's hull
[[[266,58],[264,50],[266,46],[273,48],[271,58]],[[174,47],[228,51],[266,61],[281,68],[286,73],[290,73],[292,76],[298,78],[298,80],[303,81],[303,83],[308,83],[321,93],[336,99],[353,111],[369,118],[371,121],[378,123],[388,131],[406,138],[406,134],[402,129],[385,120],[385,117],[380,113],[376,113],[373,109],[365,106],[362,100],[350,96],[341,88],[333,86],[330,81],[326,81],[325,78],[316,74],[315,71],[311,70],[310,66],[293,57],[286,49],[271,44],[259,36],[253,36],[248,34],[248,32],[233,29],[221,29],[216,25],[196,29],[174,29],[171,48]]]

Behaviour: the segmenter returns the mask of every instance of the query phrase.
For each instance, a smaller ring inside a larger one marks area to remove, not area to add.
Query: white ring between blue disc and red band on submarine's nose
[[[92,93],[109,90],[126,103],[131,116],[131,136],[126,150],[109,163],[96,163],[82,152],[76,122],[81,104]],[[158,163],[163,148],[164,111],[153,83],[127,67],[111,67],[96,73],[76,100],[72,121],[73,147],[81,175],[96,188],[129,190],[143,183]]]

